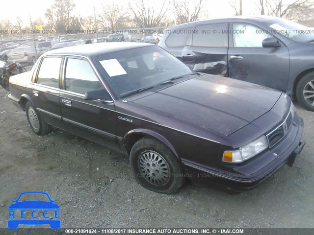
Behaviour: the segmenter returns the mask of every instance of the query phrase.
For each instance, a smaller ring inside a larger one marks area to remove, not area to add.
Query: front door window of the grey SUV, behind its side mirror
[[[265,38],[272,37],[252,24],[233,24],[234,47],[262,47]]]

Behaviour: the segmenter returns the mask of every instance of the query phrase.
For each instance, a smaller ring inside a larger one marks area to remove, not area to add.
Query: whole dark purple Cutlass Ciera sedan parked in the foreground
[[[55,126],[126,153],[137,181],[160,193],[180,190],[186,177],[252,188],[292,166],[305,144],[285,93],[195,73],[149,44],[49,51],[12,76],[10,89],[36,134]]]

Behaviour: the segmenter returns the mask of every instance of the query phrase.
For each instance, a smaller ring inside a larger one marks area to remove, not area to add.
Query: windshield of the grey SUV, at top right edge
[[[306,43],[314,40],[313,29],[292,21],[284,19],[271,21],[268,26],[295,42]]]

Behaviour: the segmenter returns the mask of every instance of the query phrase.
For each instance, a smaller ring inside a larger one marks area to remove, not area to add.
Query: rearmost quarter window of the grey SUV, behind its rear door
[[[193,27],[174,29],[167,37],[165,44],[167,47],[184,47],[193,31]]]

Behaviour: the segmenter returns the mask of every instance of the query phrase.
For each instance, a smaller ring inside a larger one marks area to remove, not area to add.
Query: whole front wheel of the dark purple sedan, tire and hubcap
[[[130,164],[136,181],[149,190],[172,194],[184,183],[179,159],[163,143],[144,137],[130,153]]]

